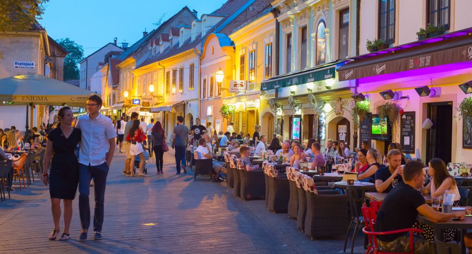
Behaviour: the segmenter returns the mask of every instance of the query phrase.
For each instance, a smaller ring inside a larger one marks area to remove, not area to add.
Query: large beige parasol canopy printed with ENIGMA
[[[0,100],[14,105],[84,107],[91,92],[34,73],[0,79]]]

